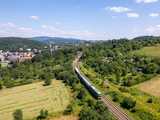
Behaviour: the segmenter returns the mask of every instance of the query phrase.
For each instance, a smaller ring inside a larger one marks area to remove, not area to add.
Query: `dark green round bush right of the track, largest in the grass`
[[[136,101],[132,100],[130,97],[125,97],[120,103],[123,108],[131,109],[136,105]]]

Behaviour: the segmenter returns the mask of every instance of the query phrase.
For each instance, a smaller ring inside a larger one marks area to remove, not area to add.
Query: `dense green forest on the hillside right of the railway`
[[[158,43],[160,43],[158,37],[99,42],[84,48],[83,61],[97,73],[107,77],[109,81],[132,86],[160,73],[160,63],[157,58],[131,54],[131,52]]]

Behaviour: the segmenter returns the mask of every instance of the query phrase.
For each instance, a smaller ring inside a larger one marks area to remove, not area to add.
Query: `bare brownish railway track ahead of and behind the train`
[[[73,62],[73,66],[79,68],[79,59],[81,55],[78,55],[76,57],[75,61]],[[79,69],[80,71],[80,69]],[[86,76],[84,76],[86,78]],[[108,97],[105,95],[101,95],[99,99],[106,105],[108,110],[115,116],[117,120],[133,120],[131,119],[128,114],[120,108],[118,105],[116,105],[114,102],[112,102]]]

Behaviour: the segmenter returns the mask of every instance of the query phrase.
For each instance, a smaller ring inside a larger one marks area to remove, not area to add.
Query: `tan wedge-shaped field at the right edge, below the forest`
[[[139,84],[138,88],[150,95],[160,97],[160,76]]]

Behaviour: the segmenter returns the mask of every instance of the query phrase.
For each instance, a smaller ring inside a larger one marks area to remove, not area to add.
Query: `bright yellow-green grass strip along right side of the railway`
[[[101,90],[102,93],[104,93],[106,96],[110,96],[112,98],[112,92],[116,92],[118,94],[119,101],[116,102],[116,104],[119,105],[119,103],[123,100],[124,97],[131,97],[132,99],[136,100],[136,112],[132,113],[126,109],[124,109],[128,114],[133,116],[135,120],[145,120],[140,119],[139,116],[142,115],[141,113],[147,112],[151,113],[155,120],[160,120],[160,98],[154,97],[152,95],[149,95],[147,93],[144,93],[139,90],[139,86],[132,86],[128,88],[127,92],[122,92],[119,90],[120,86],[115,85],[112,82],[109,84],[109,88],[104,87],[103,84],[97,84],[97,79],[101,79],[99,75],[97,75],[96,72],[93,71],[93,69],[85,68],[83,65],[81,65],[82,72],[89,77],[89,79],[92,81],[92,83]],[[103,82],[102,82],[103,83]],[[153,103],[147,103],[147,100],[149,98],[153,99]]]

